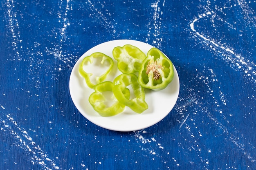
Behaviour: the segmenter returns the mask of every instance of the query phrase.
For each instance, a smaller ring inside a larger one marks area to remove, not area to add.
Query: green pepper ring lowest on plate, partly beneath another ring
[[[89,96],[89,103],[92,105],[95,111],[99,113],[99,115],[103,117],[114,116],[124,111],[125,105],[121,104],[113,95],[112,92],[113,83],[110,81],[99,83],[95,86],[94,92]],[[107,97],[105,92],[109,91],[111,93],[110,97]],[[130,98],[130,91],[128,88],[124,88],[121,91],[124,94],[124,98]],[[113,103],[109,104],[110,99]],[[110,106],[109,106],[110,105]]]

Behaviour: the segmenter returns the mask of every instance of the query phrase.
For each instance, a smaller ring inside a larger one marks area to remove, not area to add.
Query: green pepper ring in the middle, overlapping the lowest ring
[[[148,108],[148,104],[145,102],[144,88],[139,84],[137,75],[123,73],[114,79],[113,84],[113,93],[121,104],[130,107],[136,113],[142,113]],[[127,98],[124,93],[127,86],[131,86],[133,89],[135,96],[133,99]]]

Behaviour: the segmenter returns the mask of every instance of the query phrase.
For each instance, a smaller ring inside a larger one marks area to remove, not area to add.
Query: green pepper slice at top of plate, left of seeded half
[[[117,68],[127,74],[138,72],[142,61],[146,58],[145,53],[130,44],[115,47],[112,54],[117,60]]]

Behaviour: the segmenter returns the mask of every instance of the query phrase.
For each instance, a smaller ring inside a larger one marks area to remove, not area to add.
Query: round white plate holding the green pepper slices
[[[90,89],[86,84],[84,78],[79,74],[79,64],[82,62],[83,58],[91,55],[94,52],[101,52],[110,57],[112,56],[112,50],[116,46],[124,46],[125,44],[131,44],[137,46],[141,51],[147,54],[148,50],[153,46],[146,44],[144,42],[139,42],[135,40],[113,40],[109,42],[104,42],[84,53],[79,60],[74,65],[74,68],[70,75],[70,95],[74,102],[74,105],[79,110],[79,112],[87,118],[92,123],[115,131],[134,131],[148,128],[161,121],[170,111],[173,109],[180,91],[179,77],[174,67],[174,78],[173,81],[162,91],[151,91],[145,89],[146,102],[148,104],[148,109],[143,113],[138,114],[133,112],[130,108],[126,107],[124,112],[112,116],[112,117],[101,117],[90,105],[88,98],[94,90]],[[106,80],[112,81],[121,72],[117,69],[117,64],[115,59],[115,68],[112,73],[108,76]],[[97,69],[93,70],[96,73]]]

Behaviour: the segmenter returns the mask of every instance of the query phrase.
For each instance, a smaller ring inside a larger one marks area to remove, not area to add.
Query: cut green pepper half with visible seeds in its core
[[[159,49],[153,47],[147,53],[139,70],[139,83],[144,88],[159,91],[173,80],[173,63]]]

